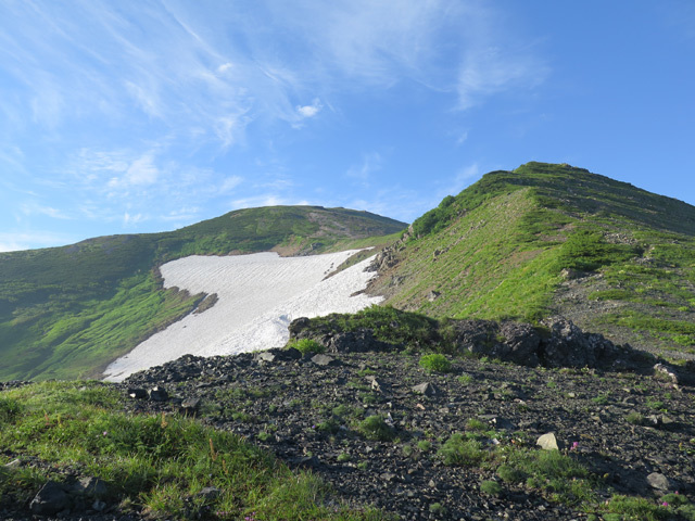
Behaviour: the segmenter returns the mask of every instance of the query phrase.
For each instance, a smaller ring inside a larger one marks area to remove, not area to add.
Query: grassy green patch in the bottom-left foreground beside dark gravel
[[[0,395],[0,444],[43,465],[4,468],[2,497],[26,503],[60,468],[109,483],[109,495],[156,518],[386,519],[325,506],[330,491],[239,436],[178,416],[119,412],[118,392],[96,382],[33,384]],[[7,457],[0,456],[0,463]],[[201,494],[215,487],[218,494]]]

